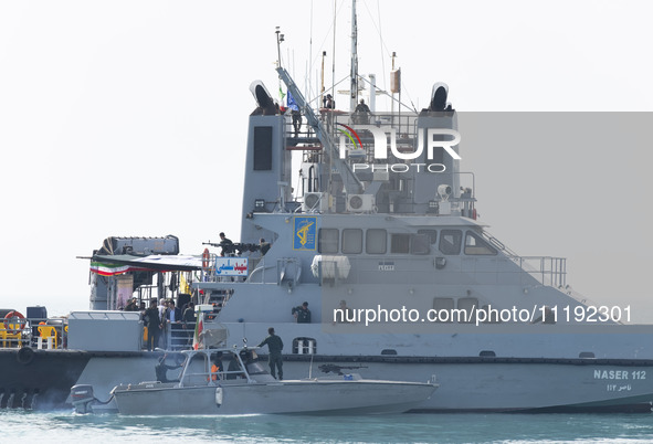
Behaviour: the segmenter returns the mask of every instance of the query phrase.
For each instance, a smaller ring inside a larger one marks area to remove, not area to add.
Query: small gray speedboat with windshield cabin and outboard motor
[[[438,388],[434,376],[423,383],[356,373],[276,380],[247,348],[188,350],[177,357],[159,362],[158,381],[117,385],[109,401],[127,415],[381,414],[419,408]],[[106,404],[89,385],[73,387],[71,398],[78,413]]]

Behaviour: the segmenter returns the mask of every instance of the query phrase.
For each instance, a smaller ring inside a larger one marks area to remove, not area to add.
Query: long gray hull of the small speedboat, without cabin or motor
[[[280,381],[203,387],[143,383],[114,390],[127,415],[385,414],[421,405],[435,390],[394,381]]]

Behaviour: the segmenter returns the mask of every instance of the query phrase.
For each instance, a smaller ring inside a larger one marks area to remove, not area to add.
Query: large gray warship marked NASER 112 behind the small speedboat
[[[74,384],[107,399],[151,380],[160,352],[143,350],[138,313],[120,311],[135,295],[193,300],[203,338],[227,328],[235,343],[274,327],[291,379],[314,366],[397,381],[434,373],[438,395],[419,411],[651,410],[651,326],[576,294],[565,258],[519,256],[488,233],[444,84],[422,110],[356,112],[355,12],[352,28],[349,110],[306,99],[280,64],[296,129],[252,83],[240,242],[180,256],[175,236],[107,239],[92,258],[92,310],[46,320],[55,349],[13,324],[23,347],[0,350],[0,408],[70,405]],[[310,323],[293,316],[304,303]]]

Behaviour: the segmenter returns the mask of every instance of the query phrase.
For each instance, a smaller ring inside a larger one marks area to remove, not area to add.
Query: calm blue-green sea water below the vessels
[[[650,443],[653,414],[119,416],[0,411],[2,442]]]

